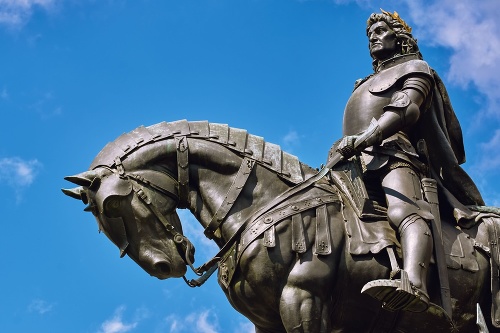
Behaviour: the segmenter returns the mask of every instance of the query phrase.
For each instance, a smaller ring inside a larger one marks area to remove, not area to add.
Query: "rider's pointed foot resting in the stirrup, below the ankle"
[[[401,279],[370,281],[361,289],[362,294],[382,302],[382,307],[389,311],[424,312],[429,307],[429,296],[423,290],[413,286],[408,273],[400,271]]]

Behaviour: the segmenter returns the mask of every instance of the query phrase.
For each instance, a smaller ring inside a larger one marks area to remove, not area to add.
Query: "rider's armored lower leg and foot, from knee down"
[[[432,237],[427,223],[417,215],[405,218],[399,227],[404,270],[399,279],[370,281],[361,290],[382,302],[388,310],[423,312],[429,306],[427,270]]]

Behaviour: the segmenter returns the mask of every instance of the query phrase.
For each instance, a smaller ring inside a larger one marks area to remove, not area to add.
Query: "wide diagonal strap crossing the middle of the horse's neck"
[[[241,162],[240,168],[236,173],[233,183],[227,191],[224,200],[215,212],[208,226],[205,228],[205,236],[207,236],[209,239],[212,239],[214,237],[214,233],[217,231],[217,229],[219,229],[222,222],[224,222],[224,220],[226,219],[227,214],[233,207],[236,199],[238,199],[241,190],[243,189],[243,187],[245,187],[245,184],[248,180],[248,177],[250,176],[250,173],[253,170],[254,165],[255,160],[248,157],[245,157]]]

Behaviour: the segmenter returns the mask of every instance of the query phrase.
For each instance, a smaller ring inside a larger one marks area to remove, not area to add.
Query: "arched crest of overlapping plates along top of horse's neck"
[[[304,174],[313,171],[296,156],[281,150],[280,146],[266,142],[262,137],[249,134],[246,130],[229,127],[227,124],[187,120],[140,126],[120,135],[99,152],[90,169],[98,166],[113,167],[117,158],[123,160],[141,147],[178,136],[218,143],[240,156],[255,160],[292,183],[303,181]]]

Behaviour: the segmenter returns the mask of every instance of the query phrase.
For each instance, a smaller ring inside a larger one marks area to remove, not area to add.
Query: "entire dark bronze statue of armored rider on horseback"
[[[150,275],[190,267],[195,287],[217,270],[257,333],[499,332],[500,211],[459,167],[458,121],[410,28],[383,12],[367,34],[375,73],[319,172],[244,130],[181,120],[121,135],[63,192]],[[198,268],[177,208],[220,247]]]

